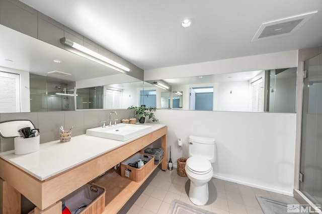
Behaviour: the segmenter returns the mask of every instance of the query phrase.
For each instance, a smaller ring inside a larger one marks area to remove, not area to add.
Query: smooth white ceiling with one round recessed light
[[[322,46],[321,0],[21,2],[144,70]],[[292,35],[251,42],[264,22],[316,10]]]

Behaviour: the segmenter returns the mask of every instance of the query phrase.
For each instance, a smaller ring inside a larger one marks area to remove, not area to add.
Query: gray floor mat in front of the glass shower
[[[264,214],[308,213],[300,210],[300,204],[290,204],[290,202],[279,201],[272,197],[262,195],[256,195],[256,198]]]

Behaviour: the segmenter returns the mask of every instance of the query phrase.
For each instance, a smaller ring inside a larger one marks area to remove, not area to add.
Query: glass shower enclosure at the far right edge
[[[322,204],[322,54],[304,62],[300,191]]]

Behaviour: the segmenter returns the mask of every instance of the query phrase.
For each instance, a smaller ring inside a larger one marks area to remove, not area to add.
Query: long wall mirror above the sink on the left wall
[[[2,25],[0,47],[1,91],[6,96],[12,91],[18,94],[10,102],[8,98],[0,99],[0,113],[126,109],[138,105],[142,79]]]

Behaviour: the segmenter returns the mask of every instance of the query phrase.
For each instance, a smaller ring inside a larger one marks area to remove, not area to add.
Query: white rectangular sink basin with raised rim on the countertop
[[[110,127],[98,127],[86,130],[87,135],[108,138],[117,141],[127,141],[136,136],[142,135],[152,130],[150,126],[136,124],[118,124]]]

